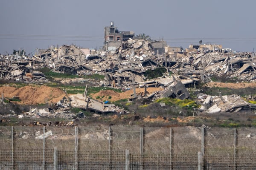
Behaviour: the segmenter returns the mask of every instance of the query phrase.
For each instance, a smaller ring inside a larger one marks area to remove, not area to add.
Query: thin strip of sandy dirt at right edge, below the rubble
[[[239,83],[225,83],[225,82],[209,82],[205,84],[207,87],[220,87],[220,88],[255,88],[256,82],[239,82]]]

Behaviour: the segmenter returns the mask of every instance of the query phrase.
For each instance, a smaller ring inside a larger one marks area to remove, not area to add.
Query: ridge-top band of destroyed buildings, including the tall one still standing
[[[101,74],[105,79],[98,83],[99,86],[122,90],[163,87],[162,92],[150,94],[150,97],[179,99],[189,97],[186,87],[195,87],[198,82],[211,82],[212,77],[225,76],[247,82],[256,79],[256,60],[251,53],[225,53],[226,49],[222,50],[221,45],[212,44],[189,45],[184,53],[183,48],[169,47],[165,41],[134,38],[134,32],[118,31],[113,22],[105,27],[105,47],[106,51],[96,51],[62,45],[38,49],[32,57],[1,55],[0,64],[3,67],[0,67],[0,78],[44,83],[48,79],[38,71],[41,68],[79,76]],[[148,77],[146,72],[157,68],[163,68],[165,73],[157,78]],[[171,75],[177,80],[176,84]],[[71,81],[86,80],[65,82]]]

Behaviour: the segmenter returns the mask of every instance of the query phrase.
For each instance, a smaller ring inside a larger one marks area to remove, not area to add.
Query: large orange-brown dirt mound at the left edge
[[[51,88],[47,86],[25,86],[22,88],[0,87],[0,94],[4,94],[5,98],[18,96],[21,105],[38,105],[45,103],[56,103],[60,101],[65,93],[59,88]]]

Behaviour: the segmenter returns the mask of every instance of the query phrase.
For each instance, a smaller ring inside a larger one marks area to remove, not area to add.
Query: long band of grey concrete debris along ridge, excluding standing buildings
[[[53,72],[75,75],[105,75],[103,85],[132,88],[134,83],[145,81],[147,70],[166,67],[166,72],[176,75],[178,80],[188,83],[212,81],[213,75],[236,78],[241,81],[256,79],[256,61],[250,53],[188,53],[177,57],[166,53],[155,55],[149,40],[129,39],[116,48],[116,53],[93,51],[75,45],[62,45],[38,50],[32,57],[1,56],[0,78],[23,82],[47,82],[45,75],[38,71],[49,68]],[[85,79],[66,80],[84,82]],[[133,83],[134,81],[134,83]]]

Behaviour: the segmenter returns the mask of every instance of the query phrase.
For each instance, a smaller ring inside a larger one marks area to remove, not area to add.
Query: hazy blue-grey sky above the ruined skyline
[[[256,0],[1,0],[0,54],[63,44],[99,49],[111,21],[172,47],[203,40],[251,52],[255,8]]]

